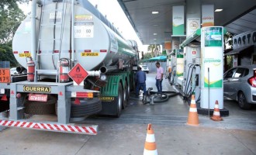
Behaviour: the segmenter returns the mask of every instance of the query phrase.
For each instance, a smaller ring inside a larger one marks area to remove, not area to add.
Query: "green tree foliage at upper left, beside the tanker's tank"
[[[21,21],[25,18],[17,2],[29,1],[1,0],[0,2],[0,61],[10,61],[11,66],[18,64],[12,54],[12,37]]]

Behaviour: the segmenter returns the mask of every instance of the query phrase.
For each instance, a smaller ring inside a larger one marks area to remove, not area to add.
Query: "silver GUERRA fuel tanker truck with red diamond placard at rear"
[[[137,43],[124,40],[87,0],[33,0],[12,50],[17,71],[26,74],[1,75],[9,80],[0,81],[0,99],[10,102],[0,126],[95,135],[97,125],[76,123],[95,114],[119,117],[126,108]],[[0,71],[8,73],[6,64]],[[25,117],[54,113],[54,122]]]

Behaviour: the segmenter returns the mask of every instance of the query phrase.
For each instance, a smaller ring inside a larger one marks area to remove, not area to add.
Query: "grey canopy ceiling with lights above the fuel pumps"
[[[187,0],[189,1],[189,0]],[[172,6],[186,5],[185,0],[118,0],[144,44],[163,44],[171,40]],[[201,0],[201,5],[214,5],[214,25],[225,26],[239,34],[256,29],[255,0]]]

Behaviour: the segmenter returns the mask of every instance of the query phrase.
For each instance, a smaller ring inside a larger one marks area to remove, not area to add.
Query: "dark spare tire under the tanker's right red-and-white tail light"
[[[87,117],[102,111],[102,102],[99,98],[80,99],[80,105],[71,101],[71,118]]]

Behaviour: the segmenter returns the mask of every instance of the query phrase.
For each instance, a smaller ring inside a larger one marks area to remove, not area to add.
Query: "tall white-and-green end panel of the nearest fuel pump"
[[[223,109],[223,34],[221,26],[201,30],[201,108],[213,109],[216,100]]]

